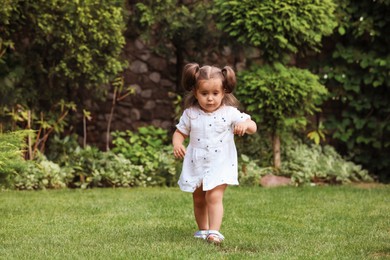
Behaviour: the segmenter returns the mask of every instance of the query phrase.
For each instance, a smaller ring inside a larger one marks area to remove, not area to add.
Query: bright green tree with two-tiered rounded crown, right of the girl
[[[334,10],[332,0],[215,1],[218,28],[243,44],[258,47],[268,64],[255,65],[239,75],[244,86],[238,88],[237,95],[260,122],[269,120],[266,126],[272,133],[275,168],[280,167],[282,126],[305,123],[302,115],[318,105],[311,102],[326,93],[310,72],[288,65],[294,55],[318,50],[322,37],[336,26]]]

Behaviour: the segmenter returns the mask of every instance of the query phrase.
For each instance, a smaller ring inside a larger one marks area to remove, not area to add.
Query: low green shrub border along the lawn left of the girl
[[[77,136],[61,139],[55,135],[50,141],[49,157],[39,154],[30,161],[25,161],[20,156],[20,148],[17,149],[21,137],[4,137],[11,140],[9,142],[0,138],[1,147],[6,149],[5,153],[0,149],[0,172],[4,172],[2,177],[8,176],[7,183],[0,180],[0,184],[27,190],[176,184],[178,163],[171,155],[172,147],[166,144],[166,130],[144,127],[138,133],[129,131],[116,135],[117,146],[107,152],[90,146],[81,148]],[[125,139],[127,137],[129,140]]]

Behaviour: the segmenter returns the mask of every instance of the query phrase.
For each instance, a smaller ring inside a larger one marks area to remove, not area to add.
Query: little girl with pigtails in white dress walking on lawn
[[[184,67],[182,85],[189,95],[185,110],[173,134],[173,153],[184,158],[179,179],[182,191],[193,193],[194,215],[199,231],[196,238],[220,244],[223,194],[228,184],[238,185],[237,150],[234,134],[256,132],[256,123],[236,108],[232,92],[236,76],[229,66],[219,69]],[[184,140],[189,137],[187,149]]]

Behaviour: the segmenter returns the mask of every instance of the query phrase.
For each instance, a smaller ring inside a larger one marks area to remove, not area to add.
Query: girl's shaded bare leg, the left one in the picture
[[[207,211],[206,192],[202,186],[197,188],[192,194],[194,200],[194,215],[199,230],[209,229],[209,217]]]

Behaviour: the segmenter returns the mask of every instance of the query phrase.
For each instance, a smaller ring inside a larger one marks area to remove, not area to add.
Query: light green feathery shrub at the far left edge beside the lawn
[[[13,174],[26,169],[23,149],[29,134],[32,131],[0,133],[0,186],[11,186]]]

